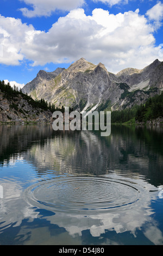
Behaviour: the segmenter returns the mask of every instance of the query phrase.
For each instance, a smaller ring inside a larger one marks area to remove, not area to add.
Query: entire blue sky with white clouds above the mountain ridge
[[[82,57],[115,74],[163,61],[162,1],[0,2],[0,80],[21,86]]]

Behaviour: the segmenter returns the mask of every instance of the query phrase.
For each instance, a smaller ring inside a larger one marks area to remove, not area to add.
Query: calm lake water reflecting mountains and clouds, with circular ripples
[[[0,125],[0,245],[163,245],[162,132]]]

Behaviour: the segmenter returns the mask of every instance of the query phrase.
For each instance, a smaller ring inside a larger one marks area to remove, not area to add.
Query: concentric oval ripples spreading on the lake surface
[[[118,179],[68,176],[41,181],[26,190],[29,203],[41,208],[93,214],[116,211],[139,200],[139,189],[129,181]]]

